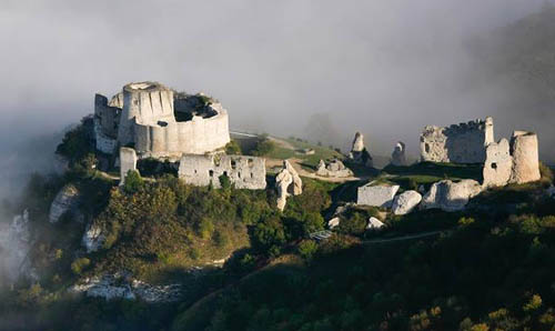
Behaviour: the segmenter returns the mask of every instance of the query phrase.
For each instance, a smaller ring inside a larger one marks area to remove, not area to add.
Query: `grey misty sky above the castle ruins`
[[[2,0],[0,167],[92,112],[95,92],[143,80],[215,97],[233,129],[342,148],[361,131],[371,152],[403,140],[416,156],[424,126],[506,103],[467,42],[544,2]]]

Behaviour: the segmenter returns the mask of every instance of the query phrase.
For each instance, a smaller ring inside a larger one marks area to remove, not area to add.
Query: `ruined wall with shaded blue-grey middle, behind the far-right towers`
[[[421,134],[421,159],[432,162],[484,163],[485,148],[494,142],[493,119],[447,128],[426,127]]]

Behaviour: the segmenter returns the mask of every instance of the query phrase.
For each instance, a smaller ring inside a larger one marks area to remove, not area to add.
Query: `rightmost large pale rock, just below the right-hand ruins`
[[[422,199],[422,209],[442,209],[444,211],[463,210],[468,200],[482,192],[482,185],[472,179],[460,182],[442,180],[432,185]]]

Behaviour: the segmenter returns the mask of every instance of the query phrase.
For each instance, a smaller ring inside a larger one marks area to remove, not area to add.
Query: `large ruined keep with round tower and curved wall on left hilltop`
[[[230,142],[228,111],[204,94],[176,93],[147,81],[129,83],[107,100],[95,97],[97,149],[104,153],[133,146],[141,159],[179,160]]]

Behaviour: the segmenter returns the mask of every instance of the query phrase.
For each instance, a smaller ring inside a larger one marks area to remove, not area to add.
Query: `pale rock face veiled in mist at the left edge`
[[[13,218],[10,224],[0,223],[0,281],[17,281],[20,277],[34,279],[28,259],[31,249],[29,212]]]

